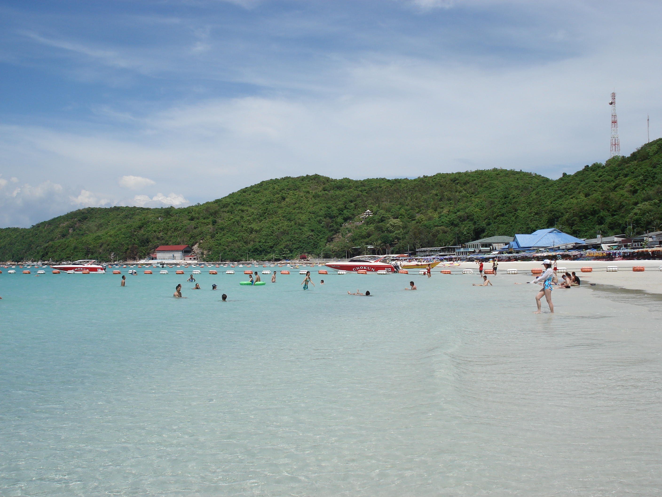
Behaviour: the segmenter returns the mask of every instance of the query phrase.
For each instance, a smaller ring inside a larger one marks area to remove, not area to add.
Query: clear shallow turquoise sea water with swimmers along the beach
[[[32,273],[0,274],[2,496],[662,490],[655,299],[559,289],[534,315],[524,275]]]

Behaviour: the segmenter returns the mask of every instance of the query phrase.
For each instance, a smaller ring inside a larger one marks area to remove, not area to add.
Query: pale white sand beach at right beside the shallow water
[[[577,276],[581,278],[582,284],[596,283],[628,288],[629,290],[643,290],[651,294],[662,294],[662,271],[658,269],[662,266],[662,261],[660,260],[563,260],[559,261],[557,265],[559,268],[567,268],[569,272],[577,272]],[[580,272],[580,268],[585,266],[593,268],[592,272]],[[618,272],[607,272],[607,266],[618,266]],[[634,272],[632,266],[644,266],[645,271]],[[441,268],[441,265],[437,266],[435,272]],[[455,266],[455,268],[470,268],[475,273],[478,272],[478,264],[475,262],[462,262],[460,266]],[[491,268],[491,264],[486,262],[484,268]],[[534,276],[530,273],[532,268],[542,268],[542,265],[536,261],[500,262],[496,278],[500,280],[501,278],[517,278],[520,276],[521,279],[522,274],[528,274],[528,276],[533,278]],[[518,270],[518,274],[507,274],[507,269],[516,269]],[[488,276],[488,278],[491,277],[493,276]]]

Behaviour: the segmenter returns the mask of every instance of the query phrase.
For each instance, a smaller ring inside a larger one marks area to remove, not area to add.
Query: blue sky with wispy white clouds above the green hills
[[[0,227],[662,135],[659,1],[0,0]]]

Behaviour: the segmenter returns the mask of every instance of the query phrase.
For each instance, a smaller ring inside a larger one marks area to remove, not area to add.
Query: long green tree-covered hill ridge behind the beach
[[[87,208],[30,228],[0,229],[0,260],[142,258],[158,245],[198,245],[205,260],[404,251],[556,226],[579,237],[659,229],[662,138],[629,157],[550,180],[514,170],[414,180],[325,176],[258,183],[211,202]],[[360,223],[370,209],[373,217]]]

